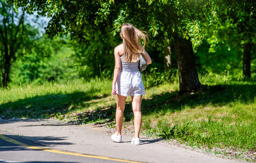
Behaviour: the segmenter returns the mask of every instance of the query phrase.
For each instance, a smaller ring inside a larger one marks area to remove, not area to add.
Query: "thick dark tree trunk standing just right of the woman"
[[[197,92],[201,88],[195,67],[195,56],[189,39],[173,33],[177,68],[180,77],[180,93]]]

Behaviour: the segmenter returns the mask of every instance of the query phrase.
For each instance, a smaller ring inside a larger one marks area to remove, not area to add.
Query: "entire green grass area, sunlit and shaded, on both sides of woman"
[[[201,91],[177,96],[177,77],[173,77],[172,83],[158,86],[152,86],[154,80],[145,77],[143,133],[255,162],[256,82],[243,82],[229,75],[199,78]],[[111,100],[109,80],[29,84],[0,91],[1,118],[57,117],[114,127],[115,99]],[[124,118],[132,125],[130,102],[128,98]]]

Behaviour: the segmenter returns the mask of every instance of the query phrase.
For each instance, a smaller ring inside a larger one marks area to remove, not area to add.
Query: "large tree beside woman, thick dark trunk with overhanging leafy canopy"
[[[51,17],[46,27],[48,37],[70,33],[79,42],[96,33],[112,28],[115,35],[124,22],[150,31],[158,37],[156,46],[174,39],[175,55],[180,76],[180,92],[195,92],[201,88],[195,67],[193,44],[196,46],[197,24],[205,18],[207,3],[203,0],[172,1],[18,1],[28,13],[38,11],[42,16]],[[197,23],[195,23],[197,22]],[[153,44],[154,44],[153,43]]]

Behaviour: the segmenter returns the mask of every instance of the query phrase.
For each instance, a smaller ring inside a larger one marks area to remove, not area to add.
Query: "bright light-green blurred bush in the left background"
[[[11,81],[14,84],[28,84],[66,80],[78,77],[74,67],[72,50],[66,39],[49,40],[40,37],[34,42],[30,52],[14,62],[11,69]]]

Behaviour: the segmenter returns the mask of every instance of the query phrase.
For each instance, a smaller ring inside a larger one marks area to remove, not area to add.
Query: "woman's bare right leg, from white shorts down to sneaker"
[[[132,96],[132,111],[134,114],[134,138],[139,138],[139,132],[141,130],[141,99],[142,96]]]

